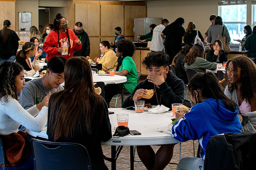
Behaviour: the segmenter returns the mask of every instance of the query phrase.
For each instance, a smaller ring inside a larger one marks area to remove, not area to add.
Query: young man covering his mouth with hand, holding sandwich
[[[134,106],[136,100],[169,108],[172,108],[172,103],[183,103],[184,83],[169,70],[168,62],[169,56],[163,51],[148,53],[142,61],[148,70],[148,77],[135,87],[132,94],[124,100],[122,107]],[[151,99],[142,98],[147,94],[146,89],[155,91]],[[137,152],[147,169],[164,169],[172,159],[174,145],[163,144],[156,153],[150,145],[137,146]]]

